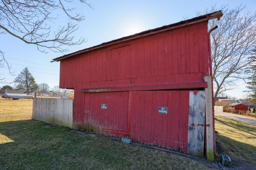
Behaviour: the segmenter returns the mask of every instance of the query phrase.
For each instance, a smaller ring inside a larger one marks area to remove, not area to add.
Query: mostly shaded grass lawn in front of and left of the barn
[[[31,119],[31,100],[0,100],[0,169],[209,169],[182,156],[81,136]]]

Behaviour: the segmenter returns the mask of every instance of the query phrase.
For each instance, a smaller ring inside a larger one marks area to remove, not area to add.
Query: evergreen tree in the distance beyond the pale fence
[[[17,84],[17,89],[23,89],[27,94],[38,89],[38,85],[35,83],[35,79],[27,67],[15,78],[14,83]]]

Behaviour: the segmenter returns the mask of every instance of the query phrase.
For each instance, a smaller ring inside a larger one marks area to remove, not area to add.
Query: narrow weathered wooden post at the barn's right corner
[[[210,127],[206,127],[206,158],[209,161],[214,161],[214,128],[212,118],[211,76],[205,76],[204,81],[207,82],[207,88],[205,88],[205,124],[210,125]]]

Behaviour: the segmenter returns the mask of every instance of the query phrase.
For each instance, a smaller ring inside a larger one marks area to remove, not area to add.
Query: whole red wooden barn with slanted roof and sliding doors
[[[208,20],[221,16],[202,15],[53,59],[60,61],[60,88],[74,89],[74,129],[202,156],[214,143],[212,81],[204,80],[211,75]]]

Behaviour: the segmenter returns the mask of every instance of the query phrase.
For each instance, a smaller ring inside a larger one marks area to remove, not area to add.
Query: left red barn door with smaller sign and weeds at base
[[[87,131],[126,136],[129,92],[84,93],[83,125]],[[106,104],[106,109],[101,109]]]

